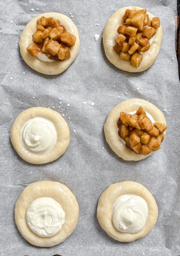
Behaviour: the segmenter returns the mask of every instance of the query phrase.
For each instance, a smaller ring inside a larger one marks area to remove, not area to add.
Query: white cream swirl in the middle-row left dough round
[[[20,136],[23,147],[36,154],[49,152],[57,141],[54,124],[44,117],[27,120],[21,128]]]

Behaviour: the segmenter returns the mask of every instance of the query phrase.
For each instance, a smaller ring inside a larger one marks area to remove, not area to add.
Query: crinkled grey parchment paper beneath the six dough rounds
[[[127,5],[149,8],[160,17],[163,27],[158,59],[142,73],[118,70],[104,54],[101,38],[104,25],[117,9]],[[180,255],[180,87],[174,47],[176,1],[0,0],[0,6],[0,255]],[[44,12],[59,12],[69,17],[71,13],[79,30],[79,55],[60,75],[46,76],[32,70],[19,53],[18,41],[23,28],[29,20]],[[98,42],[95,42],[95,34],[100,35]],[[167,110],[164,115],[168,130],[161,150],[137,163],[116,157],[103,132],[110,110],[128,98],[142,98],[163,112]],[[87,104],[83,104],[84,101]],[[9,132],[14,119],[33,106],[54,106],[54,110],[64,114],[70,128],[67,151],[49,164],[23,161],[10,143]],[[14,205],[20,193],[28,184],[40,180],[59,181],[68,186],[76,195],[80,208],[75,231],[52,248],[29,244],[14,222]],[[147,187],[159,209],[155,228],[143,239],[131,243],[111,239],[96,218],[101,193],[110,184],[124,180]]]

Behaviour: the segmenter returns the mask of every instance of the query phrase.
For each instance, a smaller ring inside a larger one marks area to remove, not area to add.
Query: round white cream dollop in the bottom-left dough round
[[[53,198],[40,197],[29,204],[26,222],[38,236],[51,237],[61,231],[65,222],[65,212],[61,204]]]

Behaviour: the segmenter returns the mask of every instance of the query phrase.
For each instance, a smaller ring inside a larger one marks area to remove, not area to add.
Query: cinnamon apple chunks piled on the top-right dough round
[[[130,60],[131,65],[138,68],[143,59],[140,52],[147,52],[150,48],[149,39],[156,34],[156,29],[160,27],[158,17],[149,19],[146,10],[125,11],[123,23],[118,27],[119,36],[113,46],[120,59]]]

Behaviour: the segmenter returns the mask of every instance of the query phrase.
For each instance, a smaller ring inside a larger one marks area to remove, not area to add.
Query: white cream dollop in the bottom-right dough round
[[[112,206],[114,227],[123,233],[137,233],[142,230],[148,214],[146,201],[134,194],[119,196]]]

